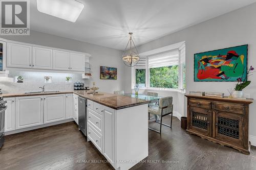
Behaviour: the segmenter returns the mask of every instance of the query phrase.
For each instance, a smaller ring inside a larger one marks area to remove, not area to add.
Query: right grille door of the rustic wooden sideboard
[[[215,111],[215,138],[242,146],[243,124],[243,115]]]

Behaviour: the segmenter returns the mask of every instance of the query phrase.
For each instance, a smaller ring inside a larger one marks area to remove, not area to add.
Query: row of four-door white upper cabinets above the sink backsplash
[[[7,42],[6,67],[84,72],[89,54],[46,46]],[[61,72],[62,72],[61,71]],[[56,71],[55,71],[56,72]]]

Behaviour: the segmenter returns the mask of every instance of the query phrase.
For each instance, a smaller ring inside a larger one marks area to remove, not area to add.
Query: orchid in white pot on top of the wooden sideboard
[[[253,70],[254,70],[254,68],[252,66],[250,66],[250,68],[246,72],[246,78],[248,78],[249,76],[252,75],[251,71],[253,71]],[[234,88],[234,92],[232,93],[234,98],[242,98],[243,89],[251,83],[251,81],[248,81],[246,79],[245,79],[246,81],[242,81],[242,80],[243,80],[243,76],[242,76],[242,78],[237,79],[238,83],[236,84],[236,87]]]

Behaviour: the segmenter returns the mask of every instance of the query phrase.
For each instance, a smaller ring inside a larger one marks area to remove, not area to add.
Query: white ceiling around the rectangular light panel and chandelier
[[[77,0],[84,9],[75,23],[36,8],[31,30],[124,50],[128,33],[136,45],[239,9],[256,0]]]

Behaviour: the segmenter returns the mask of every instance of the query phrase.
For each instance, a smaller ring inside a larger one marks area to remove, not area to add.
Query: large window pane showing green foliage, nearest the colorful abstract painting
[[[150,68],[150,87],[178,88],[179,66]]]

